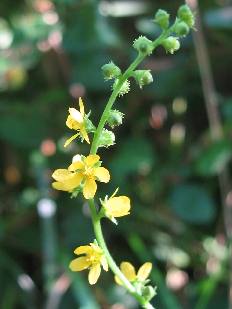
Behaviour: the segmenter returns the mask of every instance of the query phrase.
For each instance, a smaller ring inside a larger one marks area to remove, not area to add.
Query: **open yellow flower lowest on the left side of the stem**
[[[81,246],[76,248],[75,254],[86,254],[72,260],[69,268],[72,271],[80,271],[86,268],[90,268],[88,274],[88,281],[90,284],[95,284],[101,273],[101,265],[105,271],[108,271],[108,264],[104,256],[103,250],[96,246],[94,243],[90,243],[90,246]]]

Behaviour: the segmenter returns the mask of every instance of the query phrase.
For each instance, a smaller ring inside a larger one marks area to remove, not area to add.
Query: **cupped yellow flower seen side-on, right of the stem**
[[[107,216],[111,217],[122,217],[130,214],[128,211],[131,208],[130,199],[125,196],[121,195],[118,197],[114,197],[114,195],[118,192],[118,188],[115,190],[114,194],[107,200],[107,196],[105,201],[101,201],[103,207],[105,207],[105,212]]]

